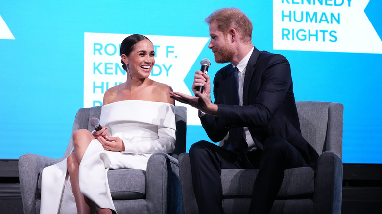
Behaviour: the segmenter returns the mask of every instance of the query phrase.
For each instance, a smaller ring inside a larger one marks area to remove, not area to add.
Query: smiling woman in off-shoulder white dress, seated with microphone
[[[134,34],[121,43],[120,55],[127,80],[104,94],[100,123],[105,126],[99,131],[74,132],[74,151],[66,159],[66,166],[59,163],[43,171],[42,214],[89,214],[92,202],[99,214],[116,213],[107,169],[146,170],[153,153],[174,150],[174,100],[169,96],[172,89],[148,78],[155,62],[153,44],[147,37]],[[60,176],[65,184],[58,191],[62,196],[57,205],[53,193],[44,189],[57,186],[58,179],[53,179],[52,174],[58,177],[58,168],[66,168],[69,176],[65,176],[66,172]]]

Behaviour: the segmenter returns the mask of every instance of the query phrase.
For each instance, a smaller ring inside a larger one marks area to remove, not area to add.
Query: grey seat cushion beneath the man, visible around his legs
[[[221,170],[224,198],[250,198],[259,170]],[[278,198],[306,198],[314,193],[314,170],[300,167],[285,170]]]

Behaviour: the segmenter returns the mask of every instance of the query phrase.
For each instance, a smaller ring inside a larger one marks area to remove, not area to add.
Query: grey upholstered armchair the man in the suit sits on
[[[342,123],[340,103],[296,102],[302,135],[318,152],[317,169],[287,169],[273,214],[340,214],[342,196]],[[226,214],[248,212],[258,170],[222,170]],[[179,156],[183,213],[197,214],[188,153]]]

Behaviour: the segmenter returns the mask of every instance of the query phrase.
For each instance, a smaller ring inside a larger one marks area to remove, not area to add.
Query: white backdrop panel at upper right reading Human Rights
[[[364,10],[369,0],[273,0],[273,47],[382,53],[382,41]]]

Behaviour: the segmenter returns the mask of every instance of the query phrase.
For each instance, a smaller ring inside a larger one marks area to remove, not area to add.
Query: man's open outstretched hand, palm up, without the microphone
[[[200,93],[199,91],[194,91],[194,93],[196,97],[171,91],[170,97],[181,103],[189,104],[204,113],[217,116],[217,105],[213,104],[206,95]]]

